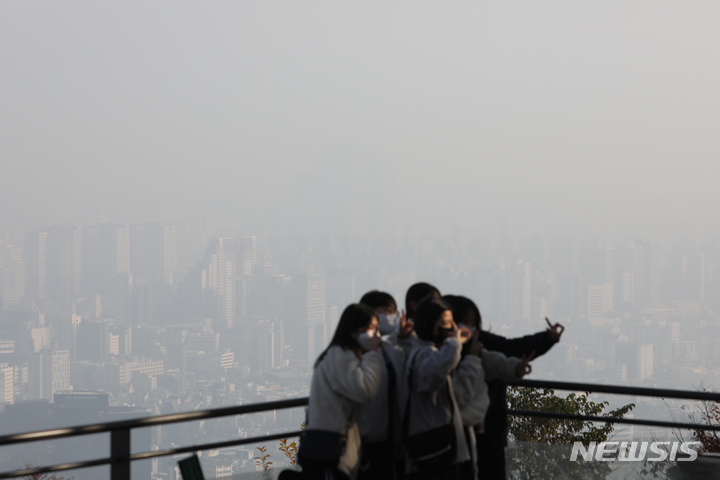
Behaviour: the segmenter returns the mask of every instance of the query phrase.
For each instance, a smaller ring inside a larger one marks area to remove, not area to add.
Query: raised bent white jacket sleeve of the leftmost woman
[[[380,387],[383,357],[379,352],[367,352],[362,361],[354,352],[343,351],[333,356],[330,385],[333,391],[357,403],[369,403],[375,399]]]

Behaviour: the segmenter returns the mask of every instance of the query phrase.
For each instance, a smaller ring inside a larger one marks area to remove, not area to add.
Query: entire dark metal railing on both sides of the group
[[[592,393],[608,393],[619,395],[633,395],[645,397],[659,398],[680,398],[686,400],[701,400],[720,402],[720,393],[698,392],[686,390],[669,390],[660,388],[640,388],[640,387],[624,387],[618,385],[597,385],[590,383],[572,383],[557,382],[547,380],[519,380],[508,382],[510,386],[529,387],[529,388],[547,388],[552,390],[568,390],[577,392]],[[278,433],[253,438],[238,438],[227,440],[224,442],[204,443],[199,445],[191,445],[188,447],[179,447],[166,450],[154,450],[150,452],[131,453],[130,450],[130,433],[135,428],[156,427],[168,425],[172,423],[190,422],[193,420],[206,420],[210,418],[228,417],[234,415],[245,415],[248,413],[264,412],[269,410],[281,410],[285,408],[303,407],[308,404],[308,398],[295,398],[291,400],[279,400],[275,402],[255,403],[249,405],[240,405],[235,407],[223,407],[210,410],[201,410],[196,412],[176,413],[170,415],[160,415],[155,417],[145,417],[136,420],[123,420],[118,422],[101,423],[96,425],[84,425],[79,427],[58,428],[53,430],[43,430],[30,433],[20,433],[15,435],[0,436],[0,447],[4,445],[14,445],[18,443],[37,442],[42,440],[57,440],[61,438],[76,437],[81,435],[90,435],[97,433],[110,433],[110,456],[95,460],[86,460],[73,463],[64,463],[58,465],[50,465],[45,467],[29,468],[24,470],[14,470],[0,472],[0,479],[17,478],[26,475],[34,475],[48,472],[59,472],[64,470],[74,470],[87,467],[95,467],[100,465],[110,465],[111,480],[130,480],[130,465],[136,460],[147,460],[155,457],[163,457],[167,455],[175,455],[180,453],[191,453],[200,450],[210,450],[216,448],[226,448],[238,445],[246,445],[253,443],[266,442],[269,440],[279,440],[283,438],[297,437],[300,431],[291,431],[286,433]],[[625,423],[632,425],[657,426],[667,428],[683,428],[693,430],[715,430],[720,431],[720,425],[693,424],[682,422],[665,422],[658,420],[643,420],[634,418],[615,418],[615,417],[599,417],[591,415],[574,415],[556,412],[543,412],[532,410],[508,410],[509,415],[560,418],[568,420],[581,420],[598,423]]]

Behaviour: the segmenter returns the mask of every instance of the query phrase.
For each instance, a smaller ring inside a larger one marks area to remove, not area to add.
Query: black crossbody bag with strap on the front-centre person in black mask
[[[408,435],[410,426],[410,399],[412,398],[412,377],[415,365],[413,357],[410,363],[410,374],[408,379],[408,399],[405,404],[405,416],[403,418],[403,444],[408,457],[420,468],[439,468],[450,465],[457,457],[457,436],[452,418],[450,423],[442,427],[433,428],[426,432]],[[446,383],[448,394],[450,393],[449,382]]]

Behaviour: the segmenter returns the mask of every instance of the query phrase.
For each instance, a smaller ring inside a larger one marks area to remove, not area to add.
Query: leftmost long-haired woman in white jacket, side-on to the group
[[[366,305],[349,305],[330,345],[315,363],[307,424],[300,439],[302,478],[355,479],[360,467],[363,406],[380,386],[383,359],[378,318]],[[337,456],[328,452],[338,451]]]

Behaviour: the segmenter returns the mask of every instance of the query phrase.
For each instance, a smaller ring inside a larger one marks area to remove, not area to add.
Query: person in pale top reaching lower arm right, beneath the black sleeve
[[[530,358],[506,357],[500,352],[483,348],[480,342],[479,322],[474,321],[477,307],[472,300],[456,295],[445,295],[453,310],[453,318],[458,326],[470,332],[471,340],[463,346],[462,360],[453,375],[453,391],[460,408],[460,416],[465,428],[465,437],[470,445],[471,468],[478,477],[482,464],[478,464],[477,441],[475,432],[482,433],[485,428],[485,415],[490,406],[488,384],[492,380],[519,380],[532,371]],[[480,368],[476,366],[479,365]]]

